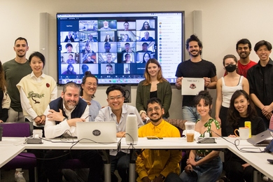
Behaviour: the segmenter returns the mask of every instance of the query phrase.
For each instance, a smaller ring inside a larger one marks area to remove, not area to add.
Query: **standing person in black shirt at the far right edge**
[[[269,57],[272,45],[265,40],[258,41],[254,50],[260,60],[258,64],[248,69],[246,78],[258,116],[264,120],[265,127],[268,128],[273,111],[273,61]]]

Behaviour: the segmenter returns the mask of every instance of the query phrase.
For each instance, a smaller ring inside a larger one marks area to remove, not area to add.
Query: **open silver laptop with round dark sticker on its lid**
[[[116,122],[78,122],[79,143],[112,143],[117,141]]]

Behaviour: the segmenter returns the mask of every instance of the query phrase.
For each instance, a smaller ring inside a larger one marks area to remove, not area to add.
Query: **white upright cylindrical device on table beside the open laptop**
[[[126,118],[126,144],[137,145],[139,141],[139,130],[137,127],[137,116],[130,113]]]

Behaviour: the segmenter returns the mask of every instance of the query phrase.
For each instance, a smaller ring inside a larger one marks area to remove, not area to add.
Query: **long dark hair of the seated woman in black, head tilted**
[[[234,103],[235,99],[237,99],[239,96],[243,95],[244,98],[249,102],[249,105],[247,107],[247,116],[248,118],[252,119],[257,116],[257,111],[255,110],[255,106],[253,102],[251,101],[249,95],[244,90],[236,90],[234,94],[232,94],[232,97],[230,99],[230,108],[228,109],[228,123],[232,126],[238,125],[238,120],[241,118],[239,111],[235,109]]]

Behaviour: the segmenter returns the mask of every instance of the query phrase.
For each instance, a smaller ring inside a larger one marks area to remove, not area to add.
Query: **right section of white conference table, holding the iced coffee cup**
[[[227,139],[228,141],[225,141]],[[121,148],[122,149],[221,149],[221,148],[228,148],[232,153],[239,156],[239,158],[245,160],[250,165],[255,167],[259,172],[265,174],[269,177],[269,179],[273,179],[273,165],[270,165],[267,162],[267,159],[273,159],[273,155],[270,153],[243,153],[238,151],[235,147],[234,141],[235,138],[228,138],[225,139],[218,138],[216,139],[216,144],[197,144],[197,141],[194,142],[187,142],[186,138],[163,138],[163,139],[146,139],[139,138],[137,145],[130,146],[126,144],[125,139],[122,139]],[[255,147],[248,143],[246,140],[240,140],[238,148],[253,148],[254,151]],[[262,151],[265,147],[262,147]],[[252,150],[253,151],[253,150]],[[132,154],[131,154],[132,155]],[[132,158],[132,157],[131,157]],[[130,181],[134,181],[135,179],[135,163],[134,161],[130,160]]]

